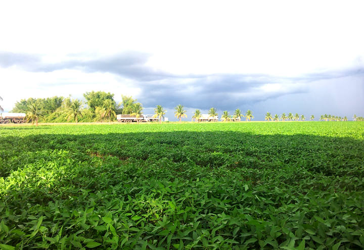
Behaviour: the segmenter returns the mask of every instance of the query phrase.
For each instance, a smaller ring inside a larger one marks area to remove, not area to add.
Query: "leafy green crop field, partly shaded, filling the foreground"
[[[364,122],[0,127],[0,249],[362,249]]]

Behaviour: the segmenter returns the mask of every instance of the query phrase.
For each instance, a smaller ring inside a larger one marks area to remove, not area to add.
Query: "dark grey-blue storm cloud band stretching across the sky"
[[[91,54],[68,55],[68,60],[45,63],[41,55],[0,53],[0,67],[21,67],[31,72],[52,72],[74,69],[87,73],[109,72],[134,80],[139,87],[138,96],[145,107],[162,105],[232,109],[247,103],[265,101],[279,96],[304,93],[308,83],[352,75],[364,75],[362,67],[341,71],[314,72],[296,77],[278,77],[267,74],[187,74],[177,75],[147,66],[150,55],[125,52],[113,56],[97,57]],[[76,83],[76,82],[75,82]],[[58,83],[55,83],[57,85]],[[62,83],[60,83],[62,84]],[[264,88],[267,84],[273,88]],[[274,84],[283,85],[275,88]]]

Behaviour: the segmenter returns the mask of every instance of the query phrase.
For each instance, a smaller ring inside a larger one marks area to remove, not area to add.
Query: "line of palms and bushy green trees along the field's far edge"
[[[45,122],[65,122],[74,121],[78,122],[100,122],[100,121],[114,121],[117,114],[134,115],[139,118],[143,114],[143,105],[133,99],[131,96],[122,95],[122,101],[116,103],[114,100],[114,94],[104,91],[91,91],[83,94],[85,102],[79,99],[71,99],[63,96],[53,96],[49,98],[28,98],[21,99],[15,104],[15,107],[11,112],[25,113],[27,120],[32,123],[38,124],[39,119]],[[2,101],[2,97],[0,96]],[[187,118],[187,111],[184,106],[177,105],[175,108],[174,116],[182,121],[182,118]],[[0,110],[3,108],[0,106]],[[162,106],[157,105],[154,109],[154,117],[159,118],[159,122],[162,122],[166,111]],[[218,113],[215,108],[211,108],[208,112],[209,118],[218,117]],[[192,120],[196,122],[200,121],[202,113],[199,109],[195,110]],[[246,121],[254,119],[253,112],[247,110],[245,114],[240,109],[236,109],[233,115],[230,115],[228,111],[223,111],[221,115],[222,121],[239,120],[245,117]],[[306,118],[304,115],[296,113],[293,115],[289,113],[283,113],[281,116],[275,114],[271,115],[267,112],[264,118],[266,121],[304,121]],[[310,116],[310,120],[314,120],[314,116]],[[320,121],[347,121],[347,117],[341,118],[340,116],[322,115]],[[137,120],[138,121],[138,120]],[[353,121],[364,121],[363,117],[353,116]]]

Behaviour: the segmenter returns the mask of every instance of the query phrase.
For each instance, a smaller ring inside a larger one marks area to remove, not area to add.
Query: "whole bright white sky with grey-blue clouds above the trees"
[[[184,105],[364,116],[362,1],[3,1],[0,105],[86,91]]]

